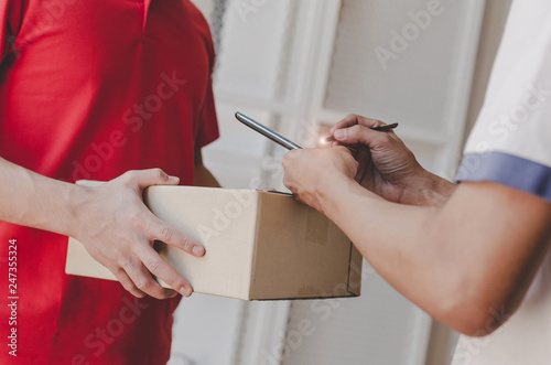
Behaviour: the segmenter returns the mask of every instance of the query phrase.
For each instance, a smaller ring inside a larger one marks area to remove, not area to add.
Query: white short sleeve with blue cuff
[[[515,1],[456,180],[551,201],[551,1]]]

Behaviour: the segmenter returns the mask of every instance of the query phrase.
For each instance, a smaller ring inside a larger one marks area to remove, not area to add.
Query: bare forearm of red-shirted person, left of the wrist
[[[79,190],[0,158],[1,221],[68,235]]]

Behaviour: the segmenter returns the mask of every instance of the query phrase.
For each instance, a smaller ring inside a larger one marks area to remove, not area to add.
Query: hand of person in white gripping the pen
[[[359,162],[356,180],[379,196],[397,203],[404,202],[407,191],[421,192],[431,187],[433,176],[415,160],[413,153],[393,131],[376,131],[385,124],[349,115],[331,129],[333,146],[352,146]]]

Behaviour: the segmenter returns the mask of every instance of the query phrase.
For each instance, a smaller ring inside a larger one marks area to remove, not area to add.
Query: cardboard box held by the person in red
[[[244,300],[360,294],[360,254],[336,225],[291,195],[151,186],[144,202],[205,246],[202,258],[168,245],[160,251],[195,292]],[[73,238],[66,272],[115,280]]]

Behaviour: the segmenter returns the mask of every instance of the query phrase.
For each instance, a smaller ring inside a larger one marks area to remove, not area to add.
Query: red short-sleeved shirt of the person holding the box
[[[162,168],[193,184],[194,151],[218,130],[213,43],[188,0],[0,0],[0,157],[71,182]],[[0,223],[0,363],[165,363],[179,299],[67,276],[66,243]]]

